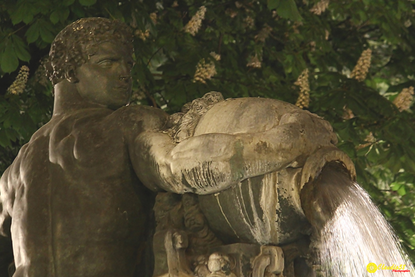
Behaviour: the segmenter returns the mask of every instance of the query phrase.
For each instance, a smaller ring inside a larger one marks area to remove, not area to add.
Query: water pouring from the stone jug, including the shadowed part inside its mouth
[[[415,276],[390,225],[343,170],[326,167],[302,199],[309,201],[305,213],[319,236],[322,276]]]

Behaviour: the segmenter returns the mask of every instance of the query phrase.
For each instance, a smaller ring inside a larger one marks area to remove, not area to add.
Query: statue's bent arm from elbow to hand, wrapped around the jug
[[[138,177],[151,189],[209,194],[247,177],[301,166],[316,149],[335,142],[327,122],[294,111],[265,132],[208,133],[179,144],[165,133],[142,132],[130,148],[130,157]]]

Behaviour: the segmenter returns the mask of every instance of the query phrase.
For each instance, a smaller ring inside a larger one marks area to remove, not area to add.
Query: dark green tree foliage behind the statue
[[[321,15],[314,0],[18,0],[0,4],[0,172],[45,124],[52,87],[40,60],[55,35],[81,17],[128,23],[136,32],[134,102],[176,112],[209,91],[228,97],[269,97],[295,103],[294,82],[308,68],[309,110],[323,116],[339,137],[338,147],[355,162],[358,182],[386,215],[415,261],[415,116],[392,100],[415,86],[415,2],[331,0]],[[200,6],[207,9],[195,36],[183,27]],[[156,13],[152,21],[150,14]],[[246,24],[251,17],[254,24]],[[256,37],[264,26],[265,41]],[[144,41],[139,31],[149,30]],[[328,37],[326,34],[328,32]],[[363,50],[372,49],[364,82],[348,78]],[[221,55],[213,60],[210,52]],[[262,57],[261,68],[247,67]],[[196,65],[214,62],[206,84],[192,82]],[[7,92],[18,68],[27,65],[22,94]],[[344,119],[344,107],[355,115]],[[374,142],[367,142],[369,133]],[[382,243],[382,242],[379,242]]]

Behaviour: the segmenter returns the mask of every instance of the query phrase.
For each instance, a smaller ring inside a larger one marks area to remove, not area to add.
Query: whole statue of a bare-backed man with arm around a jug
[[[146,240],[149,189],[218,192],[301,163],[335,140],[319,118],[276,107],[279,125],[263,132],[176,144],[158,132],[168,118],[162,110],[128,106],[132,53],[128,27],[105,18],[80,19],[55,38],[52,119],[0,181],[14,277],[131,277]]]

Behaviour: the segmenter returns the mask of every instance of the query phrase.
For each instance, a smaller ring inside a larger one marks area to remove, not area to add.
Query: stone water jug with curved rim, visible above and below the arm
[[[292,109],[291,104],[263,98],[221,102],[203,114],[194,135],[266,131],[278,125],[284,110]],[[311,230],[301,207],[301,188],[328,162],[341,163],[355,179],[349,157],[335,147],[326,147],[310,155],[302,167],[288,167],[246,179],[219,193],[200,195],[200,207],[225,243],[281,245],[295,241]]]

